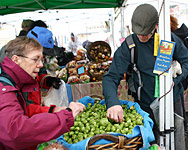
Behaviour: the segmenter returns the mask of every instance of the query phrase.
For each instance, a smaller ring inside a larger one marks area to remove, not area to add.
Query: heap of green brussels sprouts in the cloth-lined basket
[[[91,103],[88,103],[87,108],[76,117],[70,132],[64,134],[65,141],[73,144],[96,134],[110,132],[132,134],[132,129],[136,125],[143,125],[143,117],[137,113],[134,106],[128,109],[127,105],[122,105],[122,108],[124,121],[118,124],[106,117],[105,104],[101,105],[97,101],[92,106]]]

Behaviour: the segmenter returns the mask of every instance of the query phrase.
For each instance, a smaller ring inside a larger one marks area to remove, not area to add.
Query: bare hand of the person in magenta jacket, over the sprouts
[[[79,102],[71,102],[69,108],[72,110],[72,114],[75,119],[77,115],[83,112],[85,106]]]

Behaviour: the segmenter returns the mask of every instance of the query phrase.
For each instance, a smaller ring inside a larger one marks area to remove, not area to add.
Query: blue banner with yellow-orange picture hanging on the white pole
[[[168,75],[174,53],[175,42],[161,40],[153,73]]]

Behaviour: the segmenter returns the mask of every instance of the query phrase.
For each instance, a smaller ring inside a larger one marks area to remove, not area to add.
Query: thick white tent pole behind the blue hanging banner
[[[159,11],[159,35],[160,40],[171,41],[170,32],[170,7],[169,0],[158,0]],[[162,6],[162,8],[161,8]],[[167,93],[172,85],[171,69],[167,76],[160,76],[160,96]],[[160,136],[160,146],[164,146],[166,150],[174,150],[174,106],[173,106],[173,90],[160,100],[159,106],[159,129],[162,135]]]

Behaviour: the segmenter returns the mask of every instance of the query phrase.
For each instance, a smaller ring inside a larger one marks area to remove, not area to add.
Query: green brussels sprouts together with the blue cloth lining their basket
[[[79,101],[86,106],[86,109],[76,117],[70,132],[57,139],[68,149],[87,149],[91,137],[101,134],[124,136],[126,140],[141,136],[145,148],[148,148],[149,142],[154,140],[153,121],[149,118],[149,114],[144,112],[137,103],[120,100],[124,111],[124,121],[118,124],[106,117],[104,100],[95,101],[86,96]],[[126,142],[126,140],[124,141]],[[108,143],[112,143],[112,141],[104,139],[96,141],[93,145]]]

